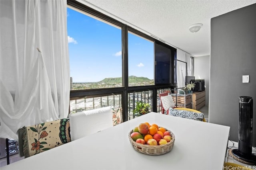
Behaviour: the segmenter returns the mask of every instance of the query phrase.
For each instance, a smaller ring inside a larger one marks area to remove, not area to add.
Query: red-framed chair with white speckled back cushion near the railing
[[[173,98],[171,95],[168,95],[168,93],[160,93],[159,98],[162,105],[162,114],[169,114],[170,108],[175,108],[175,104],[173,102]]]

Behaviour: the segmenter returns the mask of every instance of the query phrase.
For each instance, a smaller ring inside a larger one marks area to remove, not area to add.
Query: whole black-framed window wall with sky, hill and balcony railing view
[[[78,1],[67,4],[70,112],[122,107],[127,121],[137,101],[161,111],[158,94],[174,87],[176,49]]]

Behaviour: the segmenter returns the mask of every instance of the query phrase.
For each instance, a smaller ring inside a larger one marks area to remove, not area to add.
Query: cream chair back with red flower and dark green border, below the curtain
[[[19,131],[22,133],[25,158],[71,141],[69,119],[22,127]]]

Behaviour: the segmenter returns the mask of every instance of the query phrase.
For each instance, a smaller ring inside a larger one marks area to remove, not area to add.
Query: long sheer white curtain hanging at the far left
[[[67,117],[66,10],[66,0],[0,0],[0,137]]]

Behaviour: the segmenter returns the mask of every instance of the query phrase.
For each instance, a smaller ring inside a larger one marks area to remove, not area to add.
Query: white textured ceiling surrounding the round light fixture
[[[210,55],[210,20],[256,0],[78,0],[191,55]],[[203,26],[197,33],[188,27]]]

